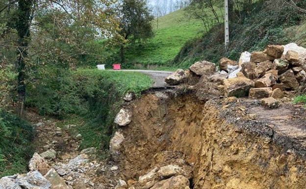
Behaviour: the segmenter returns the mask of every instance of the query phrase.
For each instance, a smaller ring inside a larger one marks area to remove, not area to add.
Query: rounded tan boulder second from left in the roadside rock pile
[[[211,76],[216,72],[216,65],[208,61],[196,62],[189,67],[190,71],[199,76]]]

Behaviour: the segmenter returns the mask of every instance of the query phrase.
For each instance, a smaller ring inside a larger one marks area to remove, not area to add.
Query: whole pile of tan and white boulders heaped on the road
[[[263,52],[244,52],[239,62],[222,58],[219,67],[208,61],[193,64],[189,70],[177,70],[165,78],[171,85],[185,82],[190,75],[201,76],[200,82],[214,82],[223,96],[262,99],[262,105],[278,108],[289,91],[306,80],[306,49],[294,43],[268,45]]]

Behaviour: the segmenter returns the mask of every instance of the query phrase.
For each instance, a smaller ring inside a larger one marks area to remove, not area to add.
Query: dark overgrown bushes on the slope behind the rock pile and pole
[[[306,0],[297,4],[306,5]],[[223,24],[214,26],[201,39],[186,42],[173,63],[180,67],[191,65],[194,60],[205,59],[217,63],[223,57],[237,60],[244,51],[262,51],[268,44],[294,42],[287,38],[286,27],[298,25],[305,14],[279,0],[256,1],[252,12],[241,20],[230,22],[229,47],[224,49]],[[196,52],[196,54],[195,54]]]

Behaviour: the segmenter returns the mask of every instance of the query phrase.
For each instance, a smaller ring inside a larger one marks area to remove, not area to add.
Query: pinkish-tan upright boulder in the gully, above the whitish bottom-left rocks
[[[28,168],[30,171],[39,171],[42,174],[46,174],[50,169],[48,162],[37,153],[33,154],[33,157],[29,161]]]

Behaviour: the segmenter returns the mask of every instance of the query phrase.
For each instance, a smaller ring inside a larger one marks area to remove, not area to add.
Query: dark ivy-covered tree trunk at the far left
[[[18,48],[17,48],[17,60],[16,69],[18,72],[18,104],[19,115],[24,115],[24,105],[26,100],[26,58],[27,47],[30,41],[30,21],[32,12],[33,0],[18,0],[18,18],[16,23],[16,29],[18,32]]]

